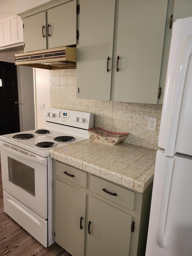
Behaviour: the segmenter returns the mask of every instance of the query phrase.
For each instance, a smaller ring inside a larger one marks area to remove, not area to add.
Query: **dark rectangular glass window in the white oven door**
[[[35,197],[35,169],[8,156],[9,181]]]

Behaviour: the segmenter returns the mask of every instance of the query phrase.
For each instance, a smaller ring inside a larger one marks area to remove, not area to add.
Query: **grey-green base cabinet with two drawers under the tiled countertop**
[[[73,256],[145,254],[152,185],[140,194],[55,160],[53,166],[55,242]]]

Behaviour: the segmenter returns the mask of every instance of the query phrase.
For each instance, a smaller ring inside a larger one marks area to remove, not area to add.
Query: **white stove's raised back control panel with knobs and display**
[[[93,127],[94,114],[45,107],[44,120],[52,123],[88,129]]]

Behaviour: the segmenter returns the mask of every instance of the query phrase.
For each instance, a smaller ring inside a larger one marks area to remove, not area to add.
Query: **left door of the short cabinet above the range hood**
[[[24,51],[37,51],[46,49],[46,12],[40,12],[23,20]],[[42,27],[45,37],[42,34]]]

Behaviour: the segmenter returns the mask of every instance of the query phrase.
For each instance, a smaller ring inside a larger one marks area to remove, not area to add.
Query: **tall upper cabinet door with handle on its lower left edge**
[[[168,0],[120,0],[114,101],[157,104]]]

